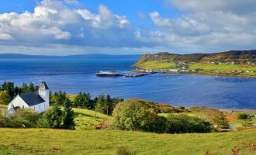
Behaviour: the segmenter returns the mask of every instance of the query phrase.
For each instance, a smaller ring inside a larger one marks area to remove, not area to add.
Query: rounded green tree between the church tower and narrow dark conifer
[[[54,108],[50,108],[47,112],[44,112],[43,117],[46,119],[48,127],[61,128],[62,111],[58,105],[54,105]]]

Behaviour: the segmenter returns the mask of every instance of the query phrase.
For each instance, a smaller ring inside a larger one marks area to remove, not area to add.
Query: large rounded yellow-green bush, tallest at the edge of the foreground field
[[[113,127],[116,129],[143,130],[164,133],[166,118],[158,116],[147,102],[130,99],[120,102],[113,111]]]

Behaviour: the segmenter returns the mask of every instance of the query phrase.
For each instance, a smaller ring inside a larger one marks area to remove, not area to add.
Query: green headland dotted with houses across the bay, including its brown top
[[[256,77],[256,50],[222,53],[144,54],[134,67],[147,70],[186,69],[187,74]]]

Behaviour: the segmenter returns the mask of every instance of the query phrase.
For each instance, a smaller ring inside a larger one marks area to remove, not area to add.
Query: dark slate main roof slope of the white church
[[[43,98],[41,98],[41,96],[38,95],[38,91],[19,95],[19,97],[22,98],[22,100],[26,102],[26,104],[29,106],[38,105],[40,103],[45,102]]]

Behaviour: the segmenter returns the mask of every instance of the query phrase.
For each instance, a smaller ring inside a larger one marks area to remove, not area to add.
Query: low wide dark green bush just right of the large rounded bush
[[[169,115],[168,133],[209,133],[212,127],[209,122],[189,115]]]

